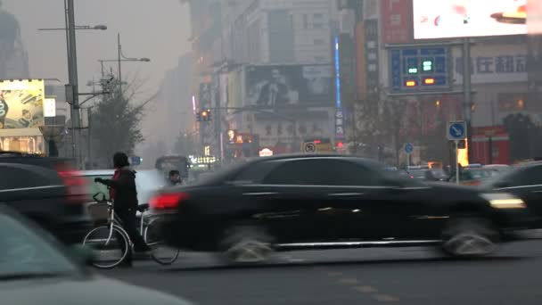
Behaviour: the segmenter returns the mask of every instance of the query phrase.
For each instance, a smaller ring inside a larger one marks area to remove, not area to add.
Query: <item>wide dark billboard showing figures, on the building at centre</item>
[[[262,108],[333,102],[332,65],[250,66],[245,101]]]

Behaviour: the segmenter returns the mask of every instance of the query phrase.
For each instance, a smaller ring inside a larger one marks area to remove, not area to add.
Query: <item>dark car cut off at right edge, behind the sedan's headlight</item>
[[[542,218],[542,162],[523,163],[480,186],[485,191],[499,191],[521,198],[529,209]],[[542,226],[542,222],[538,227]]]

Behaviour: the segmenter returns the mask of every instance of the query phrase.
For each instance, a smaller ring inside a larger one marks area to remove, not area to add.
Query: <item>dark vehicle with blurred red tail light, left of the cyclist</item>
[[[66,159],[0,152],[0,203],[37,221],[65,243],[90,229],[84,180]]]

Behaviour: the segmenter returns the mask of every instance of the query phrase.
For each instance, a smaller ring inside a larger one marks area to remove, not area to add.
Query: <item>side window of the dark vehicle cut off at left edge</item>
[[[0,166],[0,190],[11,190],[49,185],[46,177],[29,169]]]

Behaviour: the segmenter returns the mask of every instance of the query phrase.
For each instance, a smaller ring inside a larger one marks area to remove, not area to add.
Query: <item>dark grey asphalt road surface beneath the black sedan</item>
[[[174,266],[136,262],[103,271],[195,304],[541,304],[542,240],[506,244],[483,260],[423,248],[278,253],[266,266],[229,268],[184,253]]]

